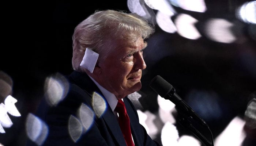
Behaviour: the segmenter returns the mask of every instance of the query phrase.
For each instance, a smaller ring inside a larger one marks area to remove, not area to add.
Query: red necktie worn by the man
[[[122,130],[126,145],[134,146],[134,143],[132,141],[130,119],[127,114],[124,102],[122,100],[118,100],[115,111],[118,112],[118,115],[119,115],[118,122],[119,122],[119,126]]]

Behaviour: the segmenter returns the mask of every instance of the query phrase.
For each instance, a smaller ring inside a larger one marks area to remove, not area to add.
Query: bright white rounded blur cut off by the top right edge
[[[245,23],[256,24],[256,1],[242,4],[236,9],[236,17]]]

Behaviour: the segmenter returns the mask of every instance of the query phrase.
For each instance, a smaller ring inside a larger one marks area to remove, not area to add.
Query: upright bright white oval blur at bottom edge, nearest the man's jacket
[[[179,146],[178,145],[178,130],[170,122],[166,122],[161,131],[161,142],[163,146]],[[189,145],[190,146],[190,145]]]

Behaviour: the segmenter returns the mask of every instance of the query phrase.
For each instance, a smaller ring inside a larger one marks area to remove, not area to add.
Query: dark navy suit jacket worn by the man
[[[81,126],[76,122],[70,123],[70,121],[72,121],[70,118],[74,116],[79,119],[78,109],[82,103],[90,107],[93,111],[91,105],[92,95],[94,92],[100,95],[102,95],[102,93],[86,73],[74,71],[71,75],[67,76],[67,78],[69,80],[69,92],[65,99],[56,107],[47,109],[44,114],[40,116],[49,126],[49,134],[44,145],[125,146],[125,140],[117,119],[107,102],[106,110],[103,115],[99,118],[95,116],[91,127],[81,134],[76,132],[79,139],[75,142],[72,140],[70,133],[72,133],[73,130],[76,131],[76,128],[80,131]],[[139,123],[138,113],[131,100],[125,97],[124,103],[130,118],[135,146],[159,146],[158,143],[149,137],[145,128]],[[76,124],[78,126],[75,126]],[[69,129],[70,125],[72,125],[72,129]]]

